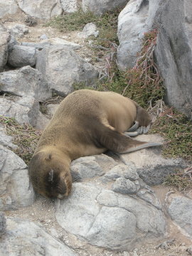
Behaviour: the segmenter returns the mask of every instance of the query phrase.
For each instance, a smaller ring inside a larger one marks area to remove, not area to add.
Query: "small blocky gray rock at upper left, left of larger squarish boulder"
[[[8,64],[15,68],[26,65],[36,65],[36,48],[28,46],[13,46],[9,51]]]

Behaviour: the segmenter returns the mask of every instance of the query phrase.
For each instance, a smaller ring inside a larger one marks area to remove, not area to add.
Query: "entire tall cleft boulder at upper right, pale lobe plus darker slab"
[[[192,118],[191,24],[190,0],[131,0],[119,14],[117,60],[120,70],[133,68],[144,33],[158,28],[155,56],[166,87],[165,100]]]

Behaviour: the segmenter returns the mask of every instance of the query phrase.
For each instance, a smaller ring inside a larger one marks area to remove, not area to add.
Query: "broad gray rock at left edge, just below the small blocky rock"
[[[39,102],[51,97],[48,82],[38,70],[30,66],[0,73],[0,91],[35,97]]]

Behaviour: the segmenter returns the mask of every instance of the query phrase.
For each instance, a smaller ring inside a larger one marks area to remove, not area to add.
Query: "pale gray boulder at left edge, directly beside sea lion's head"
[[[0,146],[0,210],[30,206],[34,198],[26,164],[14,152]]]

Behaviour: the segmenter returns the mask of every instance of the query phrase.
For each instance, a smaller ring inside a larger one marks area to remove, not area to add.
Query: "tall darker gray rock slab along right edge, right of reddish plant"
[[[192,6],[190,0],[162,1],[156,23],[156,62],[166,102],[192,118]]]

